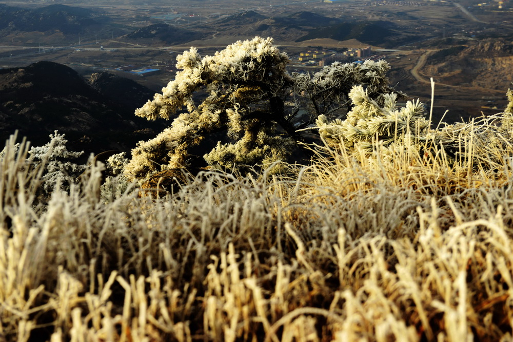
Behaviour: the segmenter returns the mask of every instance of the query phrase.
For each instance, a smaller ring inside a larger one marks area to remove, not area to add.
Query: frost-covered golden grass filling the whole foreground
[[[39,203],[11,140],[0,340],[511,340],[513,151],[465,127],[456,159],[320,148],[283,175],[107,203],[97,166]]]

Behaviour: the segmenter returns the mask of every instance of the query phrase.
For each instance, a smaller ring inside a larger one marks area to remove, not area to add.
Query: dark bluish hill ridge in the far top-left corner
[[[89,9],[66,5],[23,9],[0,4],[0,35],[15,31],[76,34],[93,25],[101,25],[101,22]]]

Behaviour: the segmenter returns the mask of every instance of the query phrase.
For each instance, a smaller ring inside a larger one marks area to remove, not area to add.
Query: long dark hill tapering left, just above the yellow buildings
[[[390,37],[398,35],[388,22],[339,23],[312,30],[297,42],[311,39],[329,38],[338,41],[357,39],[369,45],[386,46]]]

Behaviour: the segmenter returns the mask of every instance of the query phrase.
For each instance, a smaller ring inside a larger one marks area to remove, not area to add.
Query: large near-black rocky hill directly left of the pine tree
[[[145,102],[142,97],[152,98],[151,90],[105,74],[92,81],[93,86],[73,69],[53,62],[0,69],[0,141],[18,129],[32,145],[41,145],[57,129],[76,150],[129,151],[168,125],[134,115]],[[109,85],[116,90],[107,91]]]

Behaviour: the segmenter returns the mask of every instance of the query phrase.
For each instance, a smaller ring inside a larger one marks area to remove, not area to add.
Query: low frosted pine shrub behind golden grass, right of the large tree
[[[509,104],[503,113],[432,129],[418,100],[398,108],[397,95],[386,93],[379,104],[369,96],[368,89],[355,86],[349,92],[353,107],[345,120],[320,115],[316,123],[326,146],[343,154],[368,157],[379,150],[381,158],[386,159],[392,150],[413,152],[420,158],[431,153],[449,160],[452,166],[466,165],[467,173],[471,168],[494,172],[513,156],[511,90],[507,96]]]

